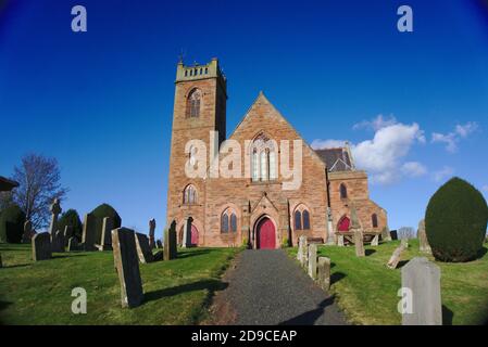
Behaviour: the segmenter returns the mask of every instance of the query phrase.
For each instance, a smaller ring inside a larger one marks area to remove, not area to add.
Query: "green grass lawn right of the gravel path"
[[[408,260],[424,254],[418,241],[411,240],[399,268],[386,267],[399,241],[366,246],[366,257],[358,258],[354,247],[321,246],[320,256],[330,258],[331,290],[348,319],[355,324],[401,324],[397,311],[401,269]],[[488,320],[488,254],[475,261],[436,261],[441,271],[441,298],[445,324],[484,324]],[[296,257],[297,248],[288,249]],[[431,256],[427,257],[434,260]]]

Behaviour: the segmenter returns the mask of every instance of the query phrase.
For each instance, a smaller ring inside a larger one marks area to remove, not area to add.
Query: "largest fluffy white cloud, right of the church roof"
[[[377,129],[373,139],[351,144],[356,167],[368,171],[374,183],[390,184],[402,176],[420,177],[427,171],[420,163],[404,163],[414,144],[425,143],[424,131],[416,123],[404,125],[393,119],[385,120],[383,116],[378,116],[368,121]],[[314,140],[312,146],[318,149],[318,144],[338,143],[343,141]]]

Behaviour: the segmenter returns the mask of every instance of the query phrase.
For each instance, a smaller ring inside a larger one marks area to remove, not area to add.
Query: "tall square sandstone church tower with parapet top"
[[[203,236],[204,181],[188,178],[185,164],[190,154],[185,145],[190,140],[201,140],[207,145],[207,162],[210,153],[210,132],[218,132],[218,145],[226,136],[227,81],[221,72],[218,61],[191,66],[178,63],[175,81],[175,102],[171,141],[170,176],[167,187],[167,224],[175,219],[180,233],[182,220],[191,217],[195,242]],[[218,149],[218,147],[217,147]],[[203,241],[200,240],[199,243]],[[197,242],[198,244],[198,242]]]

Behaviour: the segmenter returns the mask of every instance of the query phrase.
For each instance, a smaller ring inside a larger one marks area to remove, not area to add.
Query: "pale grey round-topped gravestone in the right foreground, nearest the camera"
[[[442,325],[439,267],[427,258],[413,258],[402,268],[401,282],[412,294],[412,310],[403,312],[402,325]]]

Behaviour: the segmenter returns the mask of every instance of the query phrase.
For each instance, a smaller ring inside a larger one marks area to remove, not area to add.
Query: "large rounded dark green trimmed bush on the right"
[[[433,255],[441,261],[473,260],[483,248],[488,206],[468,182],[453,178],[430,198],[425,228]]]

